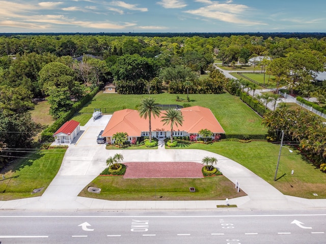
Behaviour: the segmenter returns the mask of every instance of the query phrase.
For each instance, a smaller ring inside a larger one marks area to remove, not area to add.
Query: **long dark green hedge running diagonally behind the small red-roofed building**
[[[82,108],[86,103],[88,103],[92,98],[98,93],[99,87],[96,87],[92,92],[85,95],[85,97],[78,102],[72,105],[70,111],[64,113],[60,118],[58,118],[55,123],[50,125],[41,133],[41,141],[42,142],[52,142],[55,140],[53,137],[53,133],[55,133],[63,124],[65,124],[68,119],[70,119],[75,112],[77,112],[80,108]]]

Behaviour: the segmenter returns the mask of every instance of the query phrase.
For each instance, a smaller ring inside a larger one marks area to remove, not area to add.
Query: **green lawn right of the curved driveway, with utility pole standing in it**
[[[316,169],[295,148],[291,148],[292,154],[286,148],[282,148],[277,181],[274,181],[274,175],[280,150],[279,144],[265,141],[250,143],[221,141],[207,145],[179,144],[175,148],[203,149],[223,155],[250,169],[285,195],[326,198],[326,173]],[[291,175],[292,170],[294,170],[293,175]],[[313,193],[318,196],[313,196]]]

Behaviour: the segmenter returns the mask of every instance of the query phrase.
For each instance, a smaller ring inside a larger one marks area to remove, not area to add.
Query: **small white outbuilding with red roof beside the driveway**
[[[53,134],[53,137],[55,137],[57,144],[71,144],[79,132],[80,123],[75,120],[69,120]]]

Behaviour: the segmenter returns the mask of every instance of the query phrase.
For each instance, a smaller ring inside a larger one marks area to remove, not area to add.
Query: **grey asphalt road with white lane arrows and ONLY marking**
[[[1,211],[5,243],[325,243],[326,210]]]

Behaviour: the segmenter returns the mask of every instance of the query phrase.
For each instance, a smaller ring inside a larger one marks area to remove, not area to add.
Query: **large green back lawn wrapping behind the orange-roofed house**
[[[160,104],[178,104],[177,94],[155,94],[151,95],[157,103]],[[186,97],[186,95],[179,95]],[[148,95],[120,95],[120,94],[103,94],[98,93],[94,99],[82,109],[81,112],[93,111],[94,108],[135,109],[142,99]],[[244,104],[239,97],[230,94],[189,94],[191,106],[199,105],[210,108],[212,113],[218,119],[223,129],[227,134],[265,134],[266,129],[261,125],[261,118],[246,104]],[[78,117],[74,117],[78,120]]]

